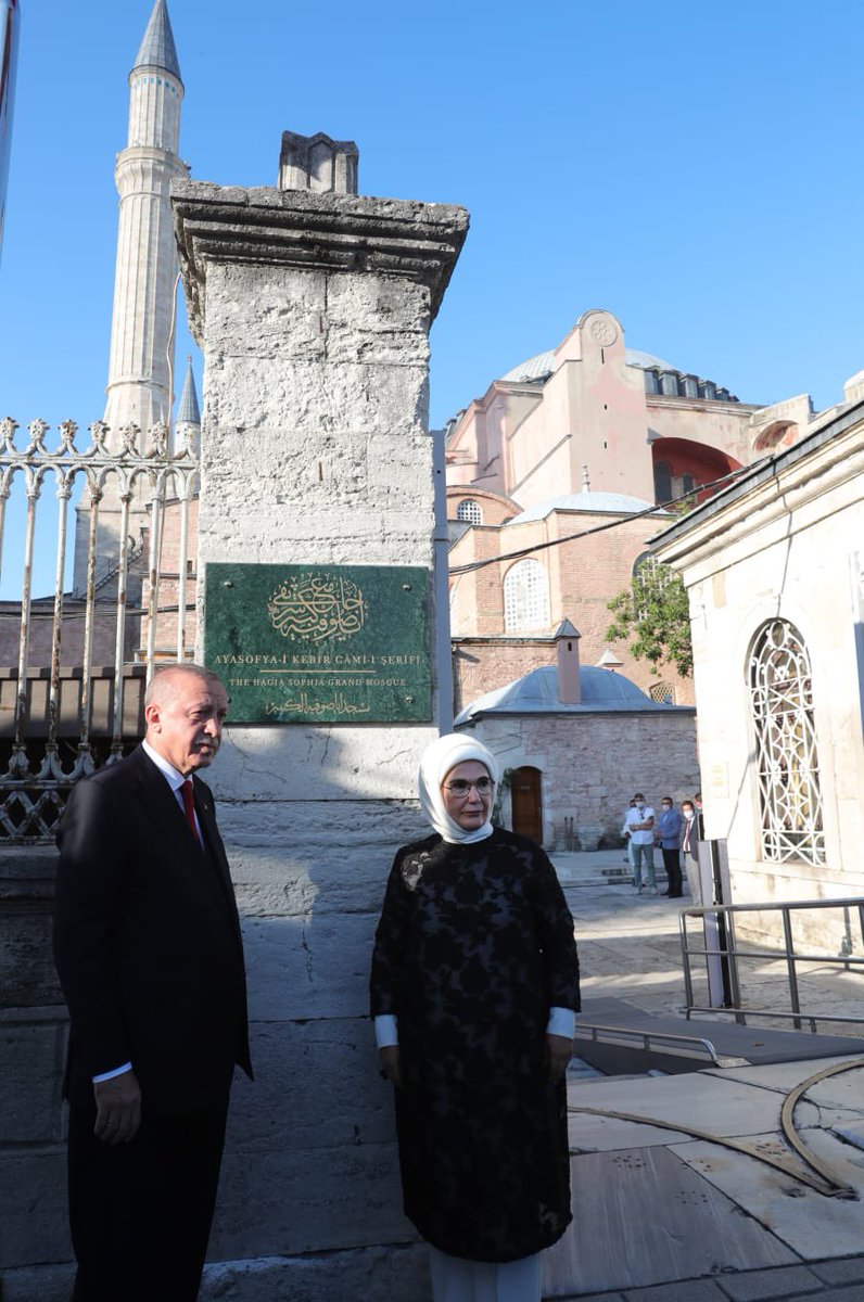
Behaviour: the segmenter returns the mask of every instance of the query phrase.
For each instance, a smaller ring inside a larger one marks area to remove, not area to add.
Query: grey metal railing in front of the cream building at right
[[[792,935],[792,914],[809,914],[826,909],[844,910],[841,953],[829,954],[799,952],[795,947],[795,937]],[[739,944],[735,939],[734,919],[748,913],[779,913],[783,928],[783,948],[769,949],[752,947],[747,943]],[[863,952],[861,957],[852,953],[852,915],[857,917],[860,949]],[[688,919],[698,919],[702,923],[704,934],[701,937],[701,945],[693,945],[691,943],[691,935],[687,930]],[[722,926],[715,928],[721,937],[717,945],[709,945],[705,939],[706,935],[710,934],[709,928],[705,927],[706,922],[710,924],[722,923]],[[838,967],[846,969],[847,971],[856,967],[864,967],[864,898],[861,898],[861,896],[847,896],[837,900],[788,900],[783,902],[705,905],[698,909],[683,909],[679,917],[679,931],[682,943],[682,963],[684,970],[684,995],[687,1001],[685,1014],[688,1018],[691,1013],[730,1013],[735,1017],[736,1022],[747,1025],[748,1017],[770,1017],[781,1021],[791,1021],[796,1030],[801,1030],[803,1022],[808,1022],[813,1034],[817,1031],[817,1022],[838,1022],[856,1026],[864,1025],[864,1014],[860,1017],[852,1017],[848,1014],[821,1012],[817,1009],[803,1009],[798,973],[800,963],[818,963],[822,967]],[[704,960],[706,967],[712,961],[723,965],[728,976],[728,980],[725,984],[730,992],[730,997],[721,1006],[696,1004],[693,997],[693,973],[691,969],[691,958]],[[771,1008],[744,1006],[739,986],[739,961],[743,958],[762,960],[769,962],[783,961],[786,963],[786,982],[790,1001],[788,1012]]]

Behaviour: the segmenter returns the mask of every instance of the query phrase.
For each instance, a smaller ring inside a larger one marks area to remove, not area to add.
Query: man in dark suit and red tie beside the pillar
[[[225,711],[210,671],[158,671],[145,741],[79,783],[60,825],[73,1302],[198,1295],[235,1064],[252,1075],[237,907],[198,777]]]

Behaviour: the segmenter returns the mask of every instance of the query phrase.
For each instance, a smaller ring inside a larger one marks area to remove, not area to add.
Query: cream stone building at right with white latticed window
[[[735,904],[864,889],[864,372],[844,397],[654,542],[689,595],[705,831]],[[854,914],[814,914],[808,940],[860,950]]]

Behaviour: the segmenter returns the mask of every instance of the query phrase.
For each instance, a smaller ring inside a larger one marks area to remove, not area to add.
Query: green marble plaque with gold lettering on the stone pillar
[[[240,724],[429,723],[429,573],[205,568],[205,661]]]

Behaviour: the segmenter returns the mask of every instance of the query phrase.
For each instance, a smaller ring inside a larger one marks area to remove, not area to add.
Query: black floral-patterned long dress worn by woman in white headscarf
[[[550,1006],[579,1009],[573,921],[525,836],[439,836],[396,855],[375,936],[371,1013],[399,1019],[405,1213],[452,1256],[511,1262],[569,1224],[563,1081]]]

